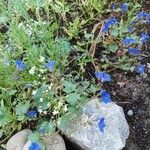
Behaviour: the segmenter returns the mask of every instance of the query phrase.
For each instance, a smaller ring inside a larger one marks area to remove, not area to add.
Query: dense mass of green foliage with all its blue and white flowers
[[[113,80],[112,70],[143,74],[137,56],[150,35],[136,28],[150,17],[140,7],[134,1],[1,1],[0,144],[30,126],[30,149],[40,149],[43,134],[68,128],[90,98],[111,103],[103,84]],[[100,118],[100,132],[106,123]]]

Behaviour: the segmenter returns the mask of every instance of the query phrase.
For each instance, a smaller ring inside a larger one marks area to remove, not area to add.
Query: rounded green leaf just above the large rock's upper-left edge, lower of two
[[[80,99],[80,94],[78,94],[78,93],[71,93],[66,96],[67,102],[71,105],[76,104],[79,99]]]

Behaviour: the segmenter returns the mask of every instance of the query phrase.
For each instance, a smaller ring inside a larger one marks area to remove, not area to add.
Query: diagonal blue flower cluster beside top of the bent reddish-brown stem
[[[107,32],[112,25],[117,24],[117,20],[115,17],[110,17],[104,24],[102,32]]]

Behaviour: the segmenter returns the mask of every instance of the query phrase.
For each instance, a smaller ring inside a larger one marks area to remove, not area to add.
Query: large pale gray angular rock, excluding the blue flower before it
[[[101,117],[106,124],[103,133],[98,127]],[[129,126],[122,107],[94,99],[85,105],[81,117],[62,132],[84,150],[121,150],[129,136]]]

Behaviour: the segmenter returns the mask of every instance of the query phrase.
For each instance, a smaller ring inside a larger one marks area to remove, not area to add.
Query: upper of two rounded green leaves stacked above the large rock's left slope
[[[64,86],[64,92],[66,93],[71,93],[76,91],[76,87],[77,87],[76,84],[73,84],[72,82],[66,80],[63,82],[63,86]]]

